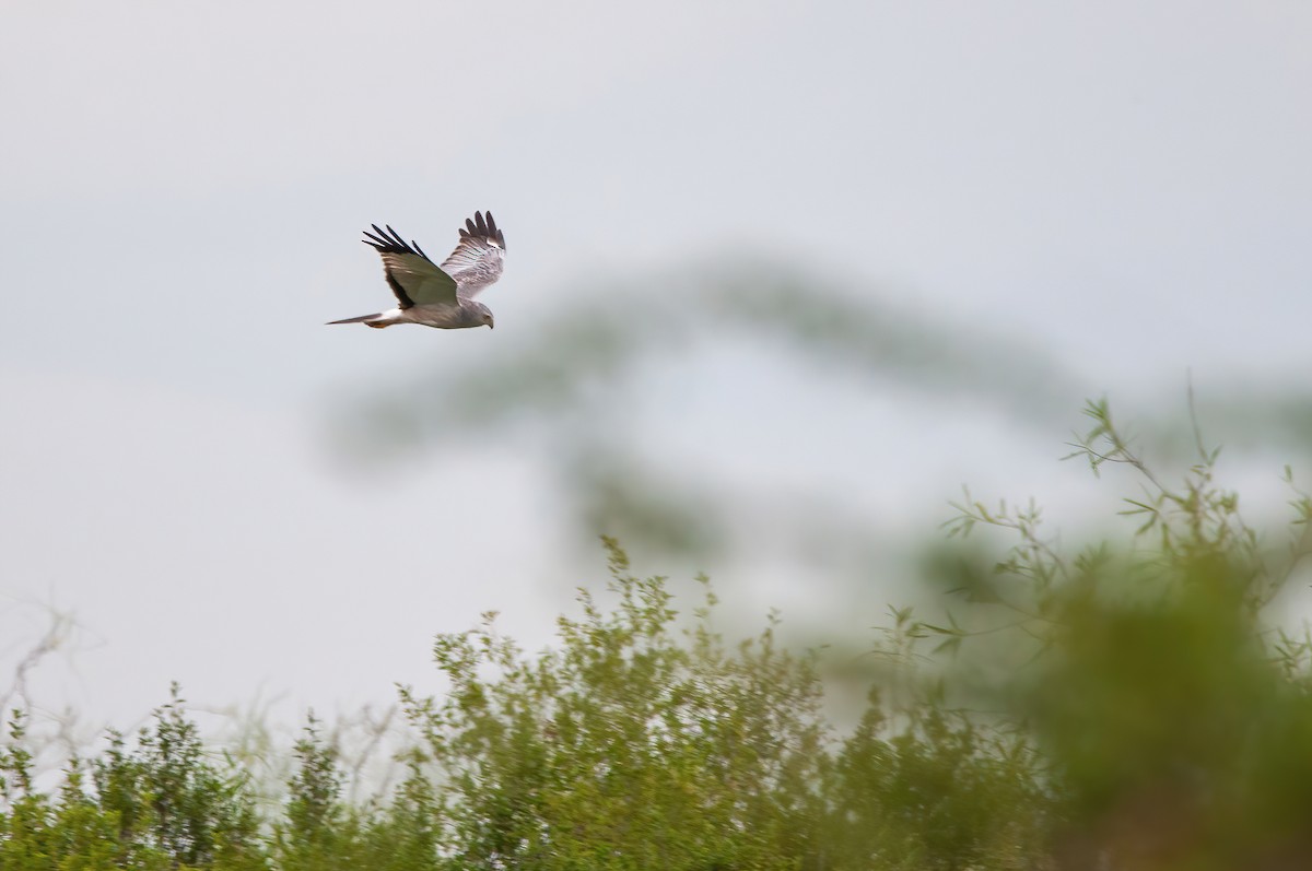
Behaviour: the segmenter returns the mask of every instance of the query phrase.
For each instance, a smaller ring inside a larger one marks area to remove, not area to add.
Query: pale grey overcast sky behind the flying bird
[[[1113,396],[1307,373],[1304,3],[0,17],[0,665],[41,606],[73,613],[41,691],[92,718],[123,724],[171,679],[209,704],[387,700],[430,679],[434,632],[487,609],[544,640],[562,584],[604,560],[559,543],[543,455],[447,445],[373,477],[325,420],[371,384],[510,354],[606,275],[796,262],[1043,346]],[[508,239],[496,331],[323,327],[388,303],[369,223],[436,254],[476,209]],[[711,445],[764,416],[754,449],[703,445],[729,476],[841,488],[858,454],[896,458],[866,470],[866,504],[929,534],[962,483],[1043,498],[1069,474],[1048,464],[1065,430],[1000,463],[997,421],[895,391],[785,412],[752,373],[706,373],[685,409]],[[796,450],[832,432],[859,436]],[[765,603],[806,596],[771,584]]]

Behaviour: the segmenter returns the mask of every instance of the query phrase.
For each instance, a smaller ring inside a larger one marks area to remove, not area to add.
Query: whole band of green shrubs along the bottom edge
[[[0,868],[1312,867],[1312,639],[1271,606],[1312,547],[1312,500],[1287,470],[1294,522],[1262,535],[1197,430],[1168,485],[1105,401],[1086,413],[1072,456],[1140,480],[1134,529],[1067,551],[1036,506],[967,496],[950,540],[992,527],[1013,544],[939,555],[941,617],[892,609],[854,727],[830,721],[829,662],[782,647],[777,617],[729,643],[705,578],[681,618],[607,540],[606,592],[580,590],[551,648],[526,653],[493,614],[437,638],[449,686],[401,691],[419,744],[386,801],[342,798],[311,715],[261,817],[176,687],[49,792],[14,712]]]

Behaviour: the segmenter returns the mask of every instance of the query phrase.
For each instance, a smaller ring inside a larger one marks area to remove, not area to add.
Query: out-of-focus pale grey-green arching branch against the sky
[[[534,439],[556,476],[556,501],[592,542],[618,537],[630,548],[655,555],[689,555],[699,565],[729,554],[750,554],[761,538],[735,538],[733,518],[762,502],[778,518],[771,543],[799,554],[811,550],[815,527],[830,551],[863,554],[876,533],[869,517],[842,513],[842,498],[815,500],[811,517],[794,510],[795,493],[733,492],[714,468],[674,474],[680,466],[663,450],[660,433],[646,425],[681,420],[659,401],[651,384],[697,361],[714,366],[726,349],[760,361],[752,378],[778,383],[779,407],[794,397],[781,375],[802,373],[802,383],[857,391],[876,383],[928,407],[970,403],[1015,428],[1051,433],[1069,426],[1071,396],[1085,395],[1082,379],[1039,340],[991,332],[924,314],[884,289],[840,286],[817,274],[778,264],[726,269],[682,265],[676,272],[572,295],[559,315],[534,328],[525,346],[476,357],[466,366],[424,371],[391,394],[361,399],[337,420],[336,433],[352,455],[369,462],[447,445],[487,443],[502,436]],[[1176,390],[1173,386],[1172,390]],[[1187,455],[1193,432],[1181,415],[1152,420],[1162,403],[1145,405],[1145,429],[1164,454]],[[1302,383],[1254,391],[1248,380],[1218,387],[1200,407],[1236,443],[1305,451],[1312,445],[1312,396]],[[649,412],[646,417],[640,413]],[[635,422],[646,421],[646,422]],[[741,438],[756,421],[741,422]],[[799,443],[799,455],[817,450]],[[854,463],[866,459],[854,455]],[[710,463],[708,463],[710,466]],[[687,470],[684,470],[687,471]],[[803,560],[807,561],[807,560]]]

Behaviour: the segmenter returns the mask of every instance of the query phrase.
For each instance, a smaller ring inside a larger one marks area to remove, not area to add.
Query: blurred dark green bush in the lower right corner
[[[1122,512],[1136,523],[1128,546],[1067,557],[1035,510],[960,505],[954,534],[991,525],[1019,540],[987,578],[966,572],[956,592],[989,596],[968,594],[951,630],[921,627],[962,658],[1013,669],[971,689],[1042,752],[1063,864],[1312,867],[1309,648],[1267,623],[1312,544],[1312,504],[1294,489],[1290,531],[1269,540],[1216,484],[1219,451],[1197,426],[1197,460],[1172,487],[1105,401],[1086,415],[1072,456],[1096,472],[1128,466],[1143,484]]]

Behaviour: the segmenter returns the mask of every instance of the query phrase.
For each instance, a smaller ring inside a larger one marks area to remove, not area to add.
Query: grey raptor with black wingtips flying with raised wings
[[[492,327],[492,311],[474,299],[480,290],[496,283],[501,277],[505,258],[505,233],[496,227],[492,213],[482,211],[464,222],[461,243],[451,256],[438,266],[417,243],[408,245],[390,226],[374,232],[365,231],[366,245],[373,245],[383,258],[383,275],[396,294],[396,308],[375,315],[361,315],[329,324],[365,324],[391,327],[392,324],[422,324],[438,329],[464,329]]]

